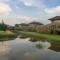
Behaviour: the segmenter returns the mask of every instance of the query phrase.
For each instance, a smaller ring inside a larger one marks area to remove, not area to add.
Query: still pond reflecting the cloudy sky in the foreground
[[[30,38],[1,41],[0,60],[60,60],[60,44]]]

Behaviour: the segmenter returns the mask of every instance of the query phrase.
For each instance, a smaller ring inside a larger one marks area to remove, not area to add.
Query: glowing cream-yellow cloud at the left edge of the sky
[[[0,3],[0,15],[10,13],[11,11],[12,9],[10,8],[8,4]]]

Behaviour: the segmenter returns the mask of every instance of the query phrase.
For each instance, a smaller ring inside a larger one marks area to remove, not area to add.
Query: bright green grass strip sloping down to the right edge
[[[38,38],[41,40],[60,42],[60,35],[41,34],[41,33],[37,33],[37,32],[24,32],[24,31],[20,31],[19,33],[27,35],[29,37]]]

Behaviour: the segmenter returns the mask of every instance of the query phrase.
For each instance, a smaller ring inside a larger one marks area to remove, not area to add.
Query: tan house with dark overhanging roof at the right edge
[[[51,31],[53,33],[60,33],[60,16],[56,16],[49,19],[51,23]]]

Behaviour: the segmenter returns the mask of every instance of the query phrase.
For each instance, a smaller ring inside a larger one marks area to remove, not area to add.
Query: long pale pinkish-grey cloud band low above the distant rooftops
[[[31,17],[31,16],[12,16],[12,17],[8,17],[8,18],[4,18],[3,19],[4,22],[6,24],[9,24],[9,25],[14,25],[14,24],[20,24],[20,23],[29,23],[29,22],[32,22],[32,21],[37,21],[38,18],[37,17]],[[1,22],[1,20],[0,20]]]

